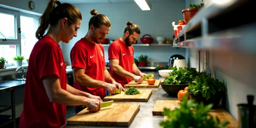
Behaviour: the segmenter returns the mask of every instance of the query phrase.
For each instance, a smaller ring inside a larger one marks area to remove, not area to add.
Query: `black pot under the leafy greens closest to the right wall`
[[[197,94],[195,96],[193,93],[189,93],[190,99],[195,99],[196,103],[203,102],[204,105],[208,105],[210,103],[213,103],[213,107],[212,108],[217,108],[217,106],[220,103],[221,96],[222,96],[222,94],[220,92],[218,92],[218,93],[215,93],[214,95],[211,94],[210,99],[206,100],[206,98],[203,97],[202,94]]]

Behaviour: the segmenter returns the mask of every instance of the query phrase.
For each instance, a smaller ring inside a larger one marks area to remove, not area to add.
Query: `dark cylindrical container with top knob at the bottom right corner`
[[[253,95],[247,95],[248,104],[238,104],[238,128],[256,128],[256,106]]]

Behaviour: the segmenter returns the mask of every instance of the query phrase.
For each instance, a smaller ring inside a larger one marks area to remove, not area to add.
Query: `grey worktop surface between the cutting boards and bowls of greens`
[[[155,74],[155,79],[160,79],[161,82],[164,80],[163,77],[159,76],[157,72],[145,72],[147,74]],[[157,100],[178,100],[177,97],[170,97],[163,91],[161,86],[159,88],[138,88],[138,89],[152,89],[152,95],[147,102],[120,102],[120,103],[132,103],[140,104],[140,110],[132,120],[129,127],[122,128],[161,128],[159,123],[163,121],[163,116],[153,116],[152,111]],[[114,102],[118,103],[118,102]],[[68,117],[69,118],[69,117]],[[80,125],[65,125],[64,128],[121,128],[117,126],[80,126]]]

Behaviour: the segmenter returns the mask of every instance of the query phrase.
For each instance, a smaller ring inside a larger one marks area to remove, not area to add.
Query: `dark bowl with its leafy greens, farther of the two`
[[[169,72],[169,76],[160,85],[167,94],[177,97],[180,90],[188,87],[195,80],[196,76],[200,76],[202,73],[198,72],[196,68],[179,67],[177,69],[175,66],[173,71]]]

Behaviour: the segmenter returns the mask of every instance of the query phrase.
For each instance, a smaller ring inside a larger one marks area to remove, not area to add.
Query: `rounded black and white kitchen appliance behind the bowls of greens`
[[[184,61],[183,59],[184,59],[185,61]],[[170,67],[175,67],[175,66],[173,66],[174,60],[182,60],[182,61],[177,61],[177,62],[176,62],[177,68],[178,68],[178,67],[183,67],[183,66],[188,67],[188,66],[187,66],[187,63],[186,63],[185,57],[183,57],[182,55],[175,54],[175,55],[169,57],[169,61],[168,61],[168,67],[169,67],[169,68],[170,68]],[[185,64],[185,63],[186,63],[186,64]],[[180,65],[179,65],[179,64],[180,64]]]

